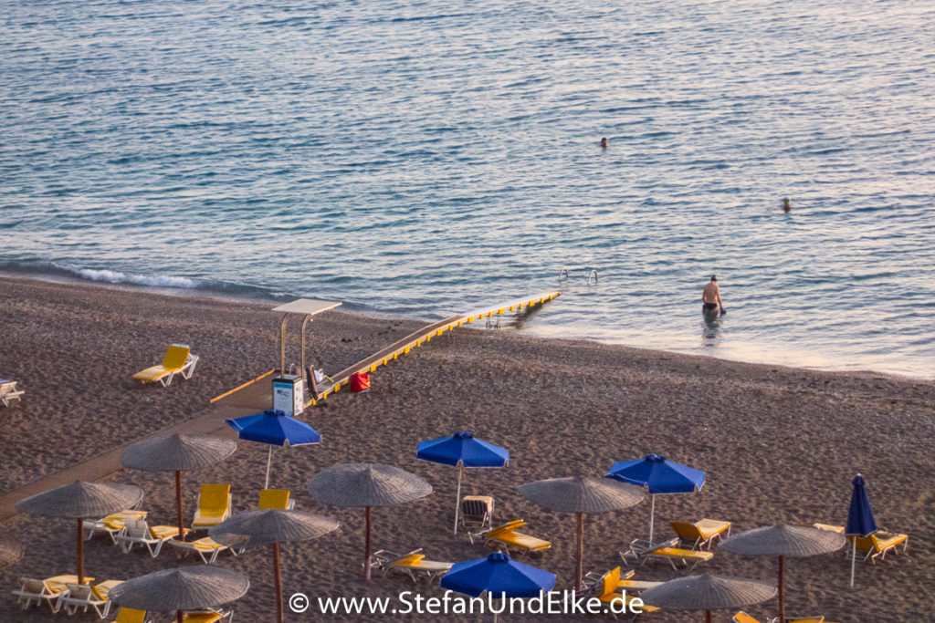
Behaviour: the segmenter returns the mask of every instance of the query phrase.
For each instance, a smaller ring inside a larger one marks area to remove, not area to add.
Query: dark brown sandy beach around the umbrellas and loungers
[[[3,492],[204,414],[213,408],[211,398],[279,361],[281,316],[268,311],[273,304],[12,277],[0,278],[0,302],[0,376],[20,381],[26,390],[21,403],[0,406]],[[424,324],[326,312],[309,325],[309,353],[316,365],[335,372]],[[290,325],[294,339],[287,361],[297,359],[297,325],[295,320]],[[192,379],[163,389],[141,387],[131,378],[160,361],[173,342],[192,345],[200,356]],[[361,579],[363,509],[315,503],[306,485],[324,467],[350,461],[388,463],[418,474],[434,493],[416,503],[375,510],[374,547],[403,552],[424,547],[427,558],[438,560],[480,558],[487,553],[482,545],[451,533],[456,471],[414,456],[421,440],[469,430],[509,448],[511,464],[502,470],[468,470],[463,493],[493,495],[496,521],[525,518],[530,533],[554,543],[541,558],[521,559],[557,573],[556,588],[570,588],[573,581],[574,517],[539,509],[516,487],[548,477],[603,475],[613,461],[657,452],[707,474],[700,493],[657,499],[657,531],[667,535],[670,520],[701,517],[732,521],[735,533],[778,522],[843,524],[851,479],[863,474],[877,523],[909,533],[908,551],[887,556],[883,563],[858,564],[853,590],[848,588],[850,565],[840,552],[788,560],[786,613],[824,615],[839,623],[935,617],[929,599],[935,585],[935,383],[930,381],[459,329],[381,367],[368,394],[339,392],[303,418],[322,433],[323,443],[276,452],[272,483],[292,490],[296,508],[334,517],[341,527],[317,541],[282,547],[286,595],[394,597],[416,590],[441,596],[437,583],[413,587],[408,578],[379,573],[369,583]],[[266,449],[240,442],[230,460],[185,474],[186,520],[198,483],[232,483],[235,512],[255,507]],[[122,470],[108,478],[145,490],[143,507],[151,523],[172,522],[171,474]],[[618,550],[646,536],[648,519],[648,503],[586,517],[585,570],[602,573],[620,564]],[[0,578],[6,594],[0,599],[0,620],[65,618],[50,616],[48,609],[23,613],[8,593],[19,576],[73,573],[73,532],[68,520],[19,515],[4,522],[4,535],[21,540],[26,551]],[[713,551],[712,561],[698,571],[775,580],[774,559]],[[87,572],[98,580],[129,579],[175,563],[171,551],[158,559],[137,551],[124,555],[105,539],[89,542],[85,558]],[[271,620],[268,553],[251,551],[236,559],[223,555],[217,564],[251,578],[250,592],[234,604],[235,620]],[[647,564],[637,572],[640,579],[653,580],[683,574],[664,564]],[[775,616],[776,602],[745,610],[760,618]],[[728,621],[731,614],[718,613],[715,620]],[[287,610],[291,621],[368,618],[379,617],[322,616],[314,607],[303,615]],[[640,620],[701,618],[660,612]],[[504,617],[598,619],[610,617]]]

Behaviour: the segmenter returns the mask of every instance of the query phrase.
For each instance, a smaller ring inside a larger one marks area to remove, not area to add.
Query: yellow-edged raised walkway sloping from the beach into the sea
[[[320,390],[318,395],[309,400],[305,405],[316,404],[318,401],[326,399],[329,394],[339,391],[348,383],[348,380],[354,373],[376,372],[377,368],[381,365],[386,365],[390,361],[396,361],[401,355],[408,355],[412,348],[418,348],[423,344],[428,344],[432,341],[433,337],[437,337],[446,331],[452,331],[458,327],[470,324],[474,322],[474,320],[502,316],[512,311],[520,312],[524,307],[534,307],[551,301],[556,296],[560,296],[561,293],[561,291],[544,292],[530,298],[516,299],[515,301],[498,304],[494,307],[477,309],[462,316],[452,316],[444,320],[439,320],[434,324],[423,327],[415,333],[410,333],[396,343],[383,348],[380,352],[370,355],[367,359],[357,361],[351,367],[341,370],[337,375],[331,375],[332,384]]]

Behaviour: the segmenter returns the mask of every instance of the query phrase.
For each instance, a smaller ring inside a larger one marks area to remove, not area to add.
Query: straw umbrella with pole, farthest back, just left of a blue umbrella
[[[123,451],[121,464],[144,472],[176,473],[176,515],[179,540],[185,540],[181,513],[181,473],[208,467],[234,454],[237,444],[209,435],[175,433],[151,437]]]

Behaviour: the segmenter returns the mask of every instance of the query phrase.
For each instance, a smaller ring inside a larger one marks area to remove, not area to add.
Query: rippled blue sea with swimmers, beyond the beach
[[[935,377],[935,4],[600,4],[2,2],[0,269]]]

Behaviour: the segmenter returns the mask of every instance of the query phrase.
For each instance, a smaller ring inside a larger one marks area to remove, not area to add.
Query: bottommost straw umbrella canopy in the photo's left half
[[[111,588],[108,598],[124,608],[175,612],[181,623],[182,611],[236,602],[248,588],[250,579],[243,573],[198,565],[140,575]]]

